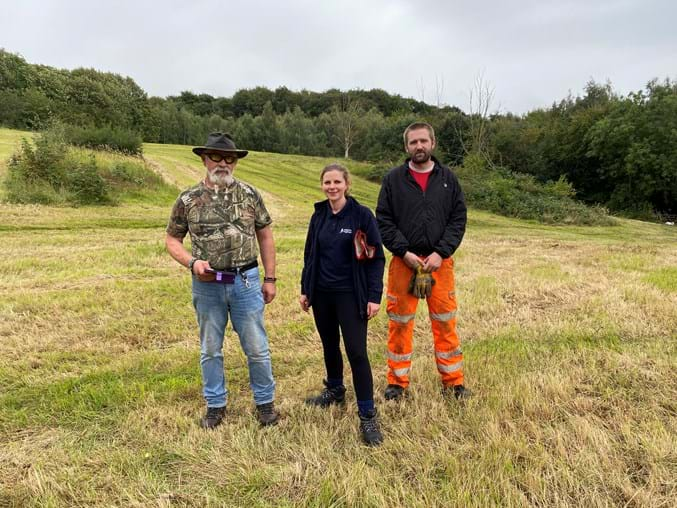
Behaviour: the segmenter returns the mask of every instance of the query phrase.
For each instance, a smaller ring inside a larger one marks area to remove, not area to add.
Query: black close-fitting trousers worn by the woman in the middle
[[[343,379],[340,328],[353,371],[355,396],[357,400],[373,400],[374,380],[367,356],[367,319],[360,316],[354,294],[316,290],[312,309],[322,339],[327,378]]]

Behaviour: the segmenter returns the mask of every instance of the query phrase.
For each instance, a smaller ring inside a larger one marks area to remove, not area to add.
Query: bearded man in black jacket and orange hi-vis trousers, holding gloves
[[[383,178],[376,206],[383,245],[393,253],[388,269],[388,387],[385,398],[401,398],[409,386],[414,317],[426,298],[443,392],[470,396],[463,385],[463,353],[456,334],[452,254],[467,221],[456,176],[433,157],[435,132],[427,123],[404,131],[409,154]]]

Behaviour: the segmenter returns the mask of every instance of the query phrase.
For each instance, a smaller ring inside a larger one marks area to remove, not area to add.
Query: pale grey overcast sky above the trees
[[[382,88],[468,110],[548,107],[590,79],[677,78],[672,0],[0,0],[0,47],[133,78],[149,95]]]

